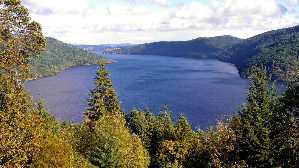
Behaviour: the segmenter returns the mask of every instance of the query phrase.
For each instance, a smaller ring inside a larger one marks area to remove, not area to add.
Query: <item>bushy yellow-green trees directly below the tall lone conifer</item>
[[[125,125],[122,115],[103,114],[94,121],[92,130],[82,123],[66,132],[63,139],[100,167],[147,167],[147,150]]]

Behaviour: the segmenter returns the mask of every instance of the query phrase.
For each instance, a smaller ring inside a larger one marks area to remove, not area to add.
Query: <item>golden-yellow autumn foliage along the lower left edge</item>
[[[0,166],[25,167],[42,142],[43,119],[23,85],[0,76]]]

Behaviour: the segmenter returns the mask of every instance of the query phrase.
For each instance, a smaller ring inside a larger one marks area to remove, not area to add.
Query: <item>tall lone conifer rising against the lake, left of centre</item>
[[[117,101],[117,95],[112,88],[113,84],[103,60],[99,63],[93,81],[96,87],[91,90],[91,94],[88,94],[90,98],[86,99],[88,105],[84,112],[89,120],[91,122],[96,121],[100,115],[106,113],[124,115],[124,111],[120,110],[120,102]]]

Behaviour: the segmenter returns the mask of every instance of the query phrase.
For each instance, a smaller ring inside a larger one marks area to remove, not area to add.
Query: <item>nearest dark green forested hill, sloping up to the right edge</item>
[[[219,55],[221,61],[234,63],[242,77],[256,65],[266,66],[272,78],[295,80],[299,66],[299,26],[272,30],[253,36]]]

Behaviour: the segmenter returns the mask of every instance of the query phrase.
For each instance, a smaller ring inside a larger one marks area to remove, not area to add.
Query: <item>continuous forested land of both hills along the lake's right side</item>
[[[242,77],[266,67],[272,79],[295,80],[299,66],[299,26],[272,30],[247,39],[232,36],[160,41],[106,51],[109,54],[215,57],[235,64]]]

